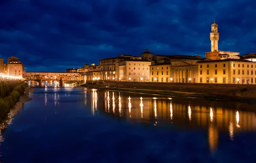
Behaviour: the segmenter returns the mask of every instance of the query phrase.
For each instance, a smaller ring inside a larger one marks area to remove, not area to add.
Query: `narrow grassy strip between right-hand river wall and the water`
[[[219,94],[199,94],[191,92],[179,92],[179,91],[156,91],[156,90],[146,90],[146,89],[132,89],[132,88],[105,88],[98,85],[81,85],[83,87],[95,88],[101,90],[110,90],[110,91],[125,91],[125,92],[134,92],[134,93],[143,93],[143,94],[155,94],[160,96],[172,96],[172,97],[192,97],[192,98],[204,98],[204,99],[215,99],[215,100],[236,100],[236,101],[252,101],[256,100],[255,98],[242,98],[237,96],[227,96]]]

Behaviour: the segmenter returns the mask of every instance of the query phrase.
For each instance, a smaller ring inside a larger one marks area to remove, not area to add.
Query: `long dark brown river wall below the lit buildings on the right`
[[[256,85],[241,84],[201,84],[201,83],[164,83],[164,82],[115,82],[99,81],[97,85],[117,88],[136,88],[161,91],[181,91],[197,94],[214,94],[231,97],[256,98]]]

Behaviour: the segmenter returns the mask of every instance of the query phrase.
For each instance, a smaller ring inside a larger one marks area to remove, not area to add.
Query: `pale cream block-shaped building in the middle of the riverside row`
[[[141,57],[131,57],[130,60],[116,63],[116,81],[144,82],[149,81],[149,66],[151,61]]]

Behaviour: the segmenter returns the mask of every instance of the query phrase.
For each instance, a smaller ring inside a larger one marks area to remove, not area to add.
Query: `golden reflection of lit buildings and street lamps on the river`
[[[202,99],[154,98],[145,94],[85,90],[85,106],[91,104],[91,114],[105,112],[119,120],[145,125],[175,126],[189,130],[208,131],[209,148],[218,146],[219,132],[231,140],[238,132],[256,130],[255,112],[243,111],[256,106],[247,103]],[[132,94],[132,96],[128,95]],[[104,97],[98,99],[98,97]]]

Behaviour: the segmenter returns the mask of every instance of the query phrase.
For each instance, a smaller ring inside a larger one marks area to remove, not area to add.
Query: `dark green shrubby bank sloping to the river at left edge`
[[[24,94],[26,87],[26,84],[17,85],[9,94],[7,94],[8,96],[0,98],[0,121],[6,117],[10,109],[18,102],[21,95]]]

